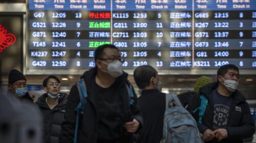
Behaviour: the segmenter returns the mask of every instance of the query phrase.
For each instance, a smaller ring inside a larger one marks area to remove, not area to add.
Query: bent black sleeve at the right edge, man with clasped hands
[[[239,127],[227,127],[228,139],[244,139],[249,138],[254,134],[255,126],[254,120],[251,116],[248,103],[244,102],[244,110]]]

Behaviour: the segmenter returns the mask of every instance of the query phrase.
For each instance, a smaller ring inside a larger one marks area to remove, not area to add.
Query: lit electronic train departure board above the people
[[[27,70],[89,69],[102,44],[124,69],[256,69],[256,1],[28,0]]]

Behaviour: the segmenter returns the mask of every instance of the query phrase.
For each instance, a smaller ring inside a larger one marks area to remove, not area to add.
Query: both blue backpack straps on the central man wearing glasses
[[[130,95],[130,105],[134,104],[134,93],[133,93],[133,88],[132,85],[130,84],[130,86],[128,84],[125,84],[128,94]],[[86,82],[84,82],[84,79],[81,78],[79,81],[76,82],[76,87],[79,93],[79,97],[80,97],[80,102],[78,103],[78,105],[75,108],[76,113],[76,125],[75,125],[75,134],[74,134],[74,143],[77,143],[77,135],[78,135],[78,128],[79,128],[79,119],[80,119],[80,115],[83,114],[83,110],[84,110],[84,105],[86,105],[87,102],[87,89],[86,89]]]

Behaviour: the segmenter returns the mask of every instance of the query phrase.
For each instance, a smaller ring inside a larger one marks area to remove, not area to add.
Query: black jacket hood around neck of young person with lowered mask
[[[39,107],[42,108],[49,108],[48,105],[46,104],[46,97],[47,97],[47,93],[42,94],[37,101],[35,102]],[[59,93],[59,100],[58,100],[58,104],[55,107],[64,107],[67,103],[67,99],[68,99],[68,94],[66,93]]]

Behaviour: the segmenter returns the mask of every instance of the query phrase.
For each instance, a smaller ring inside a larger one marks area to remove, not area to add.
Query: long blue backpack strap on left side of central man
[[[84,82],[83,78],[76,82],[76,87],[79,93],[80,102],[75,108],[75,111],[77,111],[77,113],[76,113],[74,143],[77,143],[79,118],[80,118],[80,114],[83,114],[84,105],[86,104],[86,98],[88,97],[87,90],[86,90],[86,82]]]

